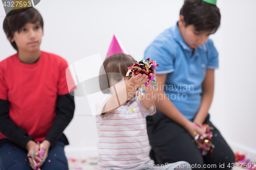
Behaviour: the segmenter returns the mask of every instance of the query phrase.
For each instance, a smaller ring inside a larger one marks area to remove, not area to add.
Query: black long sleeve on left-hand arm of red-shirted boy
[[[34,140],[33,137],[12,122],[9,116],[8,101],[0,99],[0,108],[0,132],[26,150],[27,143]]]

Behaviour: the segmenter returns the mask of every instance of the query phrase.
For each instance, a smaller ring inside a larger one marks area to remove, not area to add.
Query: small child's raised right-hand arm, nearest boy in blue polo
[[[156,76],[156,70],[150,74],[152,77]],[[152,80],[150,80],[151,86]],[[149,109],[157,100],[157,89],[153,89],[153,87],[147,86],[145,87],[145,94],[142,95],[141,102],[143,103],[144,107],[146,109]]]

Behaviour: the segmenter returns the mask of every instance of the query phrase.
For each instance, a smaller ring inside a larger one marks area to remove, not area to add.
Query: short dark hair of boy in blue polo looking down
[[[185,0],[180,15],[184,16],[186,26],[194,25],[196,31],[209,31],[214,34],[220,26],[219,8],[202,0]]]

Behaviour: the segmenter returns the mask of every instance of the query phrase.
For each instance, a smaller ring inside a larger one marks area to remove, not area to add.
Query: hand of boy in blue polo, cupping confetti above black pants
[[[199,133],[200,135],[202,135],[204,138],[206,137],[206,134],[203,130],[203,128],[198,127],[196,124],[194,124],[193,122],[190,122],[189,125],[187,125],[185,127],[185,129],[188,131],[188,133],[195,139],[195,136],[197,133]],[[201,143],[197,143],[198,148],[203,149],[205,151],[209,151],[210,148],[209,147],[203,147],[203,145]]]

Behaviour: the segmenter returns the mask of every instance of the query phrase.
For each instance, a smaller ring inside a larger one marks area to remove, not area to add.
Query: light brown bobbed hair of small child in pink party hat
[[[119,77],[121,75],[119,74],[110,74],[112,75],[112,77],[110,77],[110,75],[108,75],[108,72],[120,72],[122,74],[123,77],[126,76],[126,72],[128,71],[127,67],[130,67],[131,65],[133,65],[132,62],[134,62],[135,60],[130,56],[130,55],[126,55],[126,54],[122,54],[122,53],[117,53],[114,54],[108,58],[105,59],[105,61],[103,62],[103,65],[100,68],[100,73],[99,75],[99,85],[100,85],[100,89],[103,93],[110,93],[109,89],[110,88],[110,82],[109,80],[111,80],[112,78],[122,78]],[[106,73],[106,76],[104,75],[104,73]],[[131,78],[131,76],[129,76]]]

